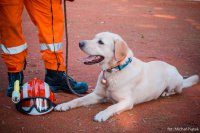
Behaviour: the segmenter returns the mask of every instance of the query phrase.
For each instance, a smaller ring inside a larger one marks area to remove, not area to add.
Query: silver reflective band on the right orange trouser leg
[[[45,44],[42,43],[40,45],[40,50],[46,50],[46,49],[50,49],[52,52],[54,51],[58,51],[60,49],[62,49],[62,43],[54,43],[54,44]]]

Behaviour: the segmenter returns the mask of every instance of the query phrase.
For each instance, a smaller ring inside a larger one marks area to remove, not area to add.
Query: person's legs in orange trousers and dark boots
[[[64,33],[61,4],[61,0],[0,0],[0,49],[1,57],[8,68],[7,96],[12,95],[16,80],[23,85],[23,68],[28,51],[21,27],[24,6],[38,29],[40,53],[46,69],[45,82],[53,92],[70,92],[61,51]],[[85,93],[88,90],[85,82],[76,82],[71,77],[69,81],[77,93]]]

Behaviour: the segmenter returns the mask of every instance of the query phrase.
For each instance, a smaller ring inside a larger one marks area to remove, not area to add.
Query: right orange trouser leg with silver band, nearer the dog
[[[45,68],[57,70],[58,60],[60,63],[59,71],[65,71],[63,52],[60,50],[60,42],[63,42],[64,33],[64,17],[61,0],[52,0],[53,11],[51,11],[50,0],[24,0],[24,2],[31,20],[39,31],[41,55],[44,60]],[[53,51],[55,51],[56,54]]]

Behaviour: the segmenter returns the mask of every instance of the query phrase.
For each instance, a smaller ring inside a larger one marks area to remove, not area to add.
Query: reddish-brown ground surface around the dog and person
[[[122,35],[136,57],[164,60],[175,65],[183,75],[200,74],[200,2],[191,0],[76,0],[68,3],[70,74],[95,87],[98,66],[77,61],[84,56],[78,48],[82,39],[101,31]],[[23,31],[29,44],[25,81],[44,78],[36,28],[26,12]],[[33,50],[34,49],[34,50]],[[31,51],[32,50],[32,51]],[[15,110],[6,97],[7,73],[0,59],[0,131],[3,132],[170,132],[200,130],[200,84],[181,95],[159,98],[136,105],[134,109],[96,123],[93,116],[111,103],[52,112],[44,116],[26,116]],[[56,94],[57,103],[76,98]],[[177,127],[177,128],[176,128]],[[183,129],[182,129],[183,130]]]

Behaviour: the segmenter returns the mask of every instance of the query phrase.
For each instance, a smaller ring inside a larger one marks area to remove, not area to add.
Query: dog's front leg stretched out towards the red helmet
[[[100,103],[103,97],[97,95],[96,93],[90,93],[84,97],[74,99],[70,102],[59,104],[55,107],[55,111],[67,111],[72,108],[80,107],[80,106],[87,106],[91,104]]]

